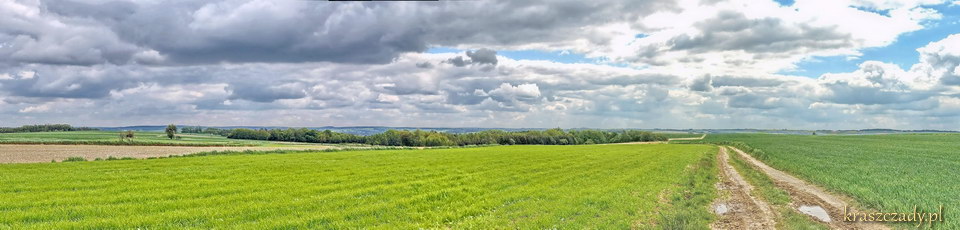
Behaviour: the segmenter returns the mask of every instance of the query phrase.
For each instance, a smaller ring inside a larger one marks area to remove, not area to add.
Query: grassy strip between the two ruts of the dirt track
[[[777,187],[770,177],[767,177],[767,175],[763,174],[759,169],[754,168],[744,161],[739,154],[730,154],[730,165],[732,165],[748,183],[753,185],[752,193],[754,196],[766,200],[767,203],[776,209],[778,213],[776,216],[777,229],[830,229],[829,226],[817,222],[790,207],[790,203],[792,202],[790,194]]]

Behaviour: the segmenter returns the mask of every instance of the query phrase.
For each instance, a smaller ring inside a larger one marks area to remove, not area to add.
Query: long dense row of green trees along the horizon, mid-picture
[[[186,132],[186,131],[184,131]],[[507,132],[486,130],[475,133],[445,133],[422,130],[387,130],[370,136],[311,129],[233,129],[226,135],[233,139],[312,142],[361,143],[386,146],[464,146],[464,145],[579,145],[622,142],[666,141],[667,138],[646,131],[571,130]]]

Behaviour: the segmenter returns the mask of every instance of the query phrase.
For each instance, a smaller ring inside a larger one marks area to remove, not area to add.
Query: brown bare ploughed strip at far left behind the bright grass
[[[68,157],[87,160],[107,157],[165,157],[211,151],[323,150],[333,146],[297,147],[192,147],[192,146],[125,146],[125,145],[0,145],[0,163],[37,163],[62,161]]]

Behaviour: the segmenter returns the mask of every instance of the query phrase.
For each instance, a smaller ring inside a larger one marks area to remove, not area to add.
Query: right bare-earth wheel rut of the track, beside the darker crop
[[[763,162],[753,158],[749,154],[740,151],[740,149],[733,148],[740,157],[746,160],[748,163],[759,168],[764,174],[766,174],[770,179],[772,179],[778,187],[787,190],[787,193],[795,201],[792,205],[793,208],[798,208],[802,205],[806,206],[820,206],[826,209],[827,213],[830,215],[829,224],[830,228],[833,229],[890,229],[889,227],[877,223],[870,222],[845,222],[843,221],[843,212],[844,208],[847,207],[847,212],[860,212],[852,207],[849,207],[847,200],[850,198],[841,197],[839,195],[834,195],[826,192],[826,190],[807,183],[800,178],[794,177],[790,174],[787,174],[783,171],[774,169],[770,166],[767,166]],[[799,201],[799,202],[797,202]]]

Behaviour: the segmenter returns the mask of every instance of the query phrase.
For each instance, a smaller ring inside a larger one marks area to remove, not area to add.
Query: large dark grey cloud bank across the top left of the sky
[[[12,19],[0,26],[4,28],[0,42],[8,44],[0,49],[0,62],[70,65],[388,63],[428,45],[569,42],[583,33],[580,26],[630,20],[673,5],[671,1],[14,3],[39,14],[0,12]],[[64,27],[36,26],[58,23]],[[607,39],[591,42],[605,44]],[[496,64],[491,51],[468,55],[475,63]]]

